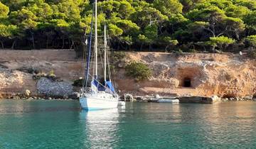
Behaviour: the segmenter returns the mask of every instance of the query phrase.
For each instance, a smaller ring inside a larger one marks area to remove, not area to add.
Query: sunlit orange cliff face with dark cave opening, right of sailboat
[[[133,94],[180,96],[247,96],[256,93],[256,61],[228,54],[128,53],[127,60],[140,61],[153,70],[148,81],[135,82],[117,75],[119,89]]]

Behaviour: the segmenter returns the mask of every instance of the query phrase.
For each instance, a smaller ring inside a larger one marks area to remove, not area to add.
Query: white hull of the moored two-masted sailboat
[[[97,96],[84,96],[80,98],[82,109],[85,110],[102,110],[117,108],[118,97],[100,98]]]

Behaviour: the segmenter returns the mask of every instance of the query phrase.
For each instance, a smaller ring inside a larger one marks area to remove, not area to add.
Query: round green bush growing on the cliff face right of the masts
[[[125,67],[126,74],[134,77],[137,81],[149,79],[151,77],[151,70],[142,62],[131,62]]]

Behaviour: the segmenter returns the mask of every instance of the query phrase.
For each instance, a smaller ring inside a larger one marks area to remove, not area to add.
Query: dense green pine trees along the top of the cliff
[[[109,0],[100,1],[98,9],[99,33],[109,24],[117,50],[255,47],[255,0]],[[1,48],[82,50],[91,13],[89,0],[1,0]]]

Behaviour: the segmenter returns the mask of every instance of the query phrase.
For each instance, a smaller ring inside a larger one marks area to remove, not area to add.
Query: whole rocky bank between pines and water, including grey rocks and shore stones
[[[0,99],[79,98],[80,87],[73,84],[84,72],[74,51],[0,50],[0,55]],[[256,96],[256,63],[244,55],[119,53],[116,59],[113,79],[119,95],[132,94],[136,101],[154,101],[151,94],[196,103]],[[149,79],[126,75],[125,65],[134,61],[151,69]],[[212,100],[215,95],[221,98]]]

